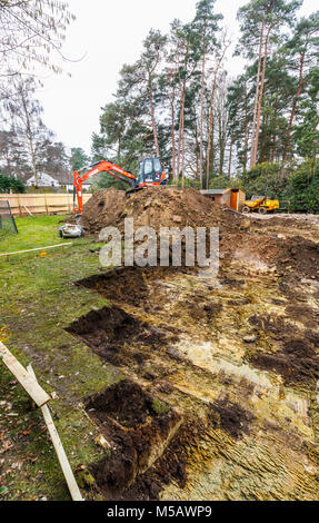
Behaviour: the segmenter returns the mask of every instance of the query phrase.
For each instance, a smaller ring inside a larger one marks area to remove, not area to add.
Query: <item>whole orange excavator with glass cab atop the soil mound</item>
[[[84,169],[82,169],[80,172],[83,170]],[[83,181],[100,172],[106,172],[113,176],[118,180],[128,184],[130,186],[130,189],[127,191],[128,197],[146,187],[163,186],[168,184],[167,176],[162,170],[159,158],[142,158],[139,161],[138,176],[134,176],[129,170],[124,170],[108,160],[98,161],[97,164],[90,166],[86,172],[80,172],[77,170],[74,171],[73,181],[76,215],[81,215],[83,211]],[[78,207],[76,207],[76,195],[78,196]]]

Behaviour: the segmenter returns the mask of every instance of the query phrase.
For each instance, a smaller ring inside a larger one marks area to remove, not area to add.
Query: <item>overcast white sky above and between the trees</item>
[[[67,32],[64,55],[78,60],[66,63],[72,76],[47,75],[38,98],[44,107],[43,120],[68,147],[90,152],[91,136],[99,131],[101,107],[112,101],[118,73],[123,63],[139,57],[151,28],[169,30],[175,18],[183,22],[195,16],[197,0],[69,0],[77,16]],[[236,13],[247,0],[217,0],[216,12],[225,17],[233,40],[238,37]],[[318,0],[305,0],[302,14],[318,9]],[[231,76],[241,71],[239,58],[229,57]]]

